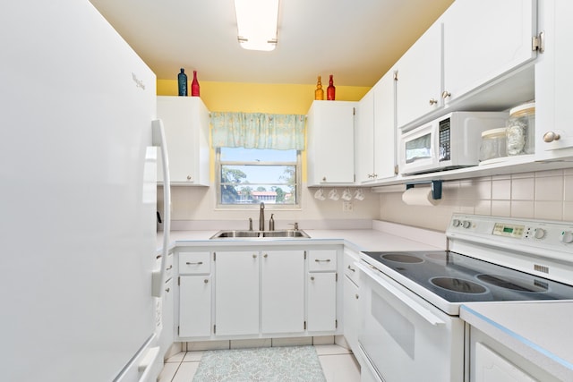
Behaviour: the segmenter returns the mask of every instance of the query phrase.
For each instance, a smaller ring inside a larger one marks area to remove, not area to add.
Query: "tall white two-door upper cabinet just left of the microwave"
[[[390,71],[360,100],[356,113],[356,183],[395,176],[396,125],[394,72]]]

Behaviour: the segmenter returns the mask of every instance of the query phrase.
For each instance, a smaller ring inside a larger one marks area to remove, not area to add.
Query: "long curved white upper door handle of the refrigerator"
[[[169,251],[169,233],[171,231],[171,179],[169,178],[169,158],[167,156],[167,140],[163,122],[156,119],[151,124],[153,146],[161,149],[161,162],[163,164],[163,248],[161,250],[161,267],[153,272],[151,294],[161,297],[166,277],[167,254]]]

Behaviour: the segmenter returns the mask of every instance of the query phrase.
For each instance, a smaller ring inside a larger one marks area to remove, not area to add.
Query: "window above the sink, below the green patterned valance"
[[[218,148],[218,208],[298,208],[301,187],[299,150]]]

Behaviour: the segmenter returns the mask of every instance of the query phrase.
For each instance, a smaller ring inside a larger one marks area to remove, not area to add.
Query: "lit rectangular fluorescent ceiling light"
[[[241,47],[269,51],[277,46],[278,2],[279,0],[235,0]]]

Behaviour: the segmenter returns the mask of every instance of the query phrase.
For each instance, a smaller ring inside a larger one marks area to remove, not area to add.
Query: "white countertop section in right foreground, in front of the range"
[[[475,302],[459,317],[564,381],[573,381],[573,302]]]

